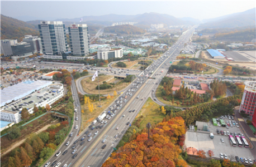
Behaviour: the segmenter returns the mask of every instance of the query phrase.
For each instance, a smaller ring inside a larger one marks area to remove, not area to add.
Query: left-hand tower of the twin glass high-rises
[[[61,55],[68,51],[65,24],[62,21],[41,21],[38,27],[45,55]]]

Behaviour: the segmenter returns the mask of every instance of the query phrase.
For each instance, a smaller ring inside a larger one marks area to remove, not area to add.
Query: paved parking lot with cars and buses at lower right
[[[225,124],[226,121],[229,121],[229,119],[225,118]],[[234,121],[237,121],[236,119]],[[226,127],[222,126],[214,126],[212,124],[212,121],[208,122],[208,130],[214,134],[214,139],[210,138],[210,135],[208,133],[203,133],[203,132],[194,132],[194,131],[187,131],[186,132],[186,140],[185,140],[185,145],[187,147],[193,147],[196,148],[197,150],[204,150],[206,153],[208,150],[214,151],[214,156],[215,158],[220,158],[220,153],[226,154],[227,158],[230,159],[231,156],[234,157],[235,161],[235,156],[238,156],[239,158],[250,158],[254,160],[254,157],[251,153],[251,151],[248,148],[239,147],[239,146],[232,146],[228,135],[221,135],[217,134],[217,129],[220,131],[229,131],[229,132],[236,132],[237,134],[242,134],[240,127],[229,127],[228,129]],[[221,142],[221,139],[224,139],[224,143]]]

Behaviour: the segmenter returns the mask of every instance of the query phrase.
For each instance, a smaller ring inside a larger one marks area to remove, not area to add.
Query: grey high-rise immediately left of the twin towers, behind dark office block
[[[41,38],[38,38],[37,36],[25,35],[25,38],[23,38],[23,42],[27,42],[30,44],[33,53],[41,53]]]

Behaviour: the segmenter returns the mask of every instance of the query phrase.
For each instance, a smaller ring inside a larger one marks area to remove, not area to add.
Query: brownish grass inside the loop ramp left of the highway
[[[113,76],[110,76],[110,75],[99,76],[99,84],[103,84],[103,81],[110,80],[111,78],[113,78]],[[113,83],[115,81],[116,81],[116,78],[113,78],[112,80],[108,81],[107,84]],[[89,94],[98,94],[98,90],[96,89],[97,84],[98,84],[98,78],[96,78],[95,81],[92,81],[92,77],[87,77],[81,81],[83,90],[85,92],[88,92]],[[120,81],[120,82],[117,82],[117,84],[113,86],[111,89],[100,90],[100,94],[113,94],[114,91],[116,92],[120,91],[128,85],[129,83]]]

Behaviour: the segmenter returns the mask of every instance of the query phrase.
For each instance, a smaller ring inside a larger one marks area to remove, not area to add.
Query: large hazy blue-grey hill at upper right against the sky
[[[254,26],[255,27],[255,8],[248,11],[228,14],[217,18],[203,20],[206,22],[198,28],[235,28]]]

